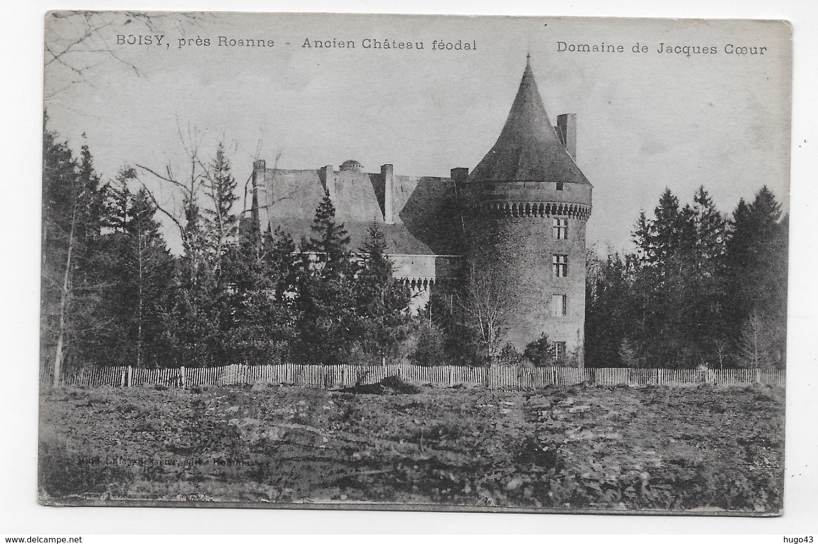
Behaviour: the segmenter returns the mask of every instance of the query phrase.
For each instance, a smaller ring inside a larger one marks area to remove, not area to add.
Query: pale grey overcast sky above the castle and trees
[[[627,249],[640,209],[652,212],[665,187],[686,202],[703,184],[724,212],[764,184],[788,200],[783,24],[222,14],[166,15],[151,31],[125,16],[100,17],[92,22],[105,26],[88,47],[110,47],[117,58],[72,48],[65,64],[47,65],[46,94],[53,95],[50,127],[75,149],[86,133],[104,178],[134,163],[170,163],[181,174],[180,124],[200,131],[208,158],[220,139],[229,144],[242,183],[257,148],[268,166],[281,153],[286,169],[347,159],[370,172],[384,163],[411,175],[473,169],[500,133],[530,51],[552,123],[562,113],[578,115],[577,161],[594,186],[589,244]],[[82,34],[82,23],[47,16],[48,46],[61,51]],[[129,46],[118,45],[117,34],[164,38],[161,46]],[[218,36],[275,45],[219,47]],[[179,38],[210,45],[180,48]],[[423,42],[424,49],[366,49],[367,38]],[[305,39],[356,47],[307,48]],[[476,43],[476,50],[433,51],[434,40]],[[622,45],[624,52],[559,52],[559,42]],[[633,53],[637,42],[649,51]],[[717,52],[658,53],[660,43]],[[728,44],[766,49],[739,56],[726,52]],[[85,66],[81,77],[72,70]]]

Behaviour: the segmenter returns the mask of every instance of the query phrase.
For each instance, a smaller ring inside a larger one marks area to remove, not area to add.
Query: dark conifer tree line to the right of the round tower
[[[767,187],[730,217],[664,191],[635,251],[588,254],[587,364],[784,368],[788,223]]]

